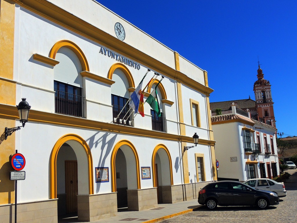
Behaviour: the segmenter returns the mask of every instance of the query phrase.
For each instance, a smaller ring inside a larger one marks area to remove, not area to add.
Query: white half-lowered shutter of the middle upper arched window
[[[124,98],[130,98],[130,93],[128,91],[128,88],[130,87],[129,82],[121,69],[117,68],[113,72],[112,80],[116,83],[111,85],[111,94]]]

